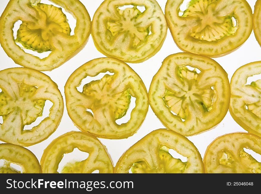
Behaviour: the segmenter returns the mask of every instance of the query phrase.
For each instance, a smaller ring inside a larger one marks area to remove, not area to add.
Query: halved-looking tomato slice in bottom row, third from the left
[[[169,154],[173,149],[187,162]],[[203,173],[198,149],[184,136],[167,129],[152,131],[131,146],[117,162],[115,173]]]

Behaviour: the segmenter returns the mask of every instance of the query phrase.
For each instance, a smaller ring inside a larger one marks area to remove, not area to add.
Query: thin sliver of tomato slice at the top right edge
[[[258,43],[261,45],[261,0],[257,0],[253,15],[254,33]]]

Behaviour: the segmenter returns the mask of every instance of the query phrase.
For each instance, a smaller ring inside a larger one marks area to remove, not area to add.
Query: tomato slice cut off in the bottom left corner
[[[0,159],[4,159],[4,166],[0,167],[0,173],[20,173],[10,167],[10,163],[22,167],[22,173],[41,173],[41,167],[36,156],[28,149],[13,145],[0,144]]]

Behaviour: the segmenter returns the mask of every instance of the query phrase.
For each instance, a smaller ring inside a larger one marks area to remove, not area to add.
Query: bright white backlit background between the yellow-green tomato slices
[[[103,0],[81,0],[81,2],[85,5],[87,11],[90,14],[90,17],[93,18],[93,14],[98,8],[98,6],[102,3]],[[163,12],[165,9],[165,4],[167,0],[157,0],[160,4]],[[43,1],[42,1],[43,2]],[[248,0],[252,10],[254,11],[254,4],[255,0]],[[1,0],[0,1],[0,13],[2,14],[4,8],[6,7],[8,3],[8,0]],[[50,2],[49,2],[50,3]],[[67,15],[67,14],[66,14]],[[69,23],[72,20],[69,18]],[[160,51],[153,56],[152,58],[148,59],[147,61],[144,61],[143,63],[139,64],[131,64],[130,67],[136,71],[137,74],[141,77],[141,79],[144,81],[144,84],[149,90],[149,86],[152,80],[152,77],[156,74],[158,69],[161,66],[162,61],[167,56],[173,54],[173,53],[179,53],[182,52],[174,43],[174,40],[171,37],[171,33],[168,30],[167,38],[160,49]],[[235,72],[236,69],[238,69],[240,66],[254,62],[254,61],[261,61],[261,48],[260,45],[257,43],[257,40],[255,39],[254,32],[250,35],[248,40],[236,51],[233,53],[230,53],[226,56],[222,56],[219,58],[214,58],[228,73],[229,80],[231,79],[231,76]],[[45,71],[44,73],[51,77],[51,79],[58,84],[58,88],[61,91],[63,95],[64,100],[64,106],[65,106],[65,96],[64,96],[64,85],[68,79],[68,77],[71,75],[71,73],[76,70],[79,66],[86,63],[87,61],[90,61],[94,58],[104,57],[103,54],[101,54],[94,46],[93,40],[90,36],[88,43],[86,44],[85,48],[83,48],[76,56],[71,58],[69,61],[61,65],[60,67],[52,70],[52,71]],[[7,54],[4,52],[2,47],[0,47],[0,58],[1,58],[1,64],[0,64],[0,70],[7,69],[11,67],[20,67],[19,65],[15,64],[11,58],[7,56]],[[134,143],[136,143],[138,140],[140,140],[142,137],[147,135],[149,132],[158,129],[158,128],[165,128],[160,120],[155,116],[151,108],[149,107],[149,111],[147,113],[147,117],[144,121],[144,123],[141,125],[140,129],[137,131],[136,134],[133,136],[127,138],[127,139],[121,139],[121,140],[110,140],[110,139],[100,139],[100,141],[106,146],[112,161],[114,163],[114,166],[117,162],[117,160],[120,158],[120,156]],[[58,136],[62,135],[63,133],[69,132],[69,131],[79,131],[74,124],[72,123],[71,119],[69,118],[67,114],[66,107],[64,109],[63,117],[61,120],[60,125],[58,126],[57,130],[45,141],[27,147],[29,150],[31,150],[36,157],[40,160],[42,153],[44,149],[47,147],[50,142],[57,138]],[[195,146],[198,148],[202,158],[204,156],[204,153],[206,151],[207,146],[218,136],[221,136],[226,133],[236,132],[236,131],[244,131],[243,128],[241,128],[230,116],[230,113],[228,112],[225,118],[222,120],[222,122],[214,129],[203,132],[199,135],[190,136],[188,139],[192,141]],[[0,141],[0,143],[2,143]],[[77,155],[77,154],[76,154]],[[74,154],[74,156],[76,156]],[[80,157],[80,156],[76,156]],[[68,161],[67,161],[68,162]]]

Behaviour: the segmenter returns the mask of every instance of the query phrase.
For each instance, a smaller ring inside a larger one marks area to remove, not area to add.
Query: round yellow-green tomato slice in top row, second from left
[[[155,0],[105,0],[93,16],[96,48],[125,62],[140,63],[154,56],[166,34],[167,23]]]

